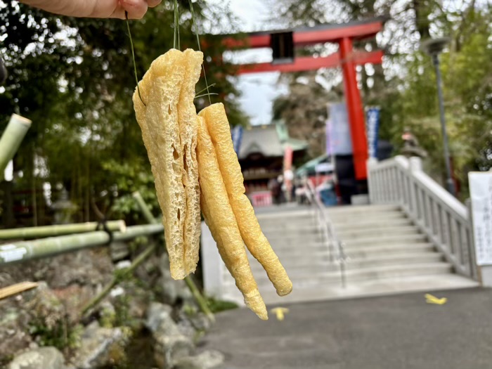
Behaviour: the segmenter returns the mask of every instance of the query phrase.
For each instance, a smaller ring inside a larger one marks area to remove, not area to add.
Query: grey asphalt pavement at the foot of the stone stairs
[[[285,304],[283,321],[246,309],[219,313],[205,348],[221,369],[490,369],[492,290]],[[275,306],[269,306],[273,308]]]

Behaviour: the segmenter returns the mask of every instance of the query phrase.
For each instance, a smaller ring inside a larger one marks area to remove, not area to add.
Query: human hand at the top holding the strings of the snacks
[[[72,17],[140,19],[148,8],[160,4],[161,0],[21,0],[22,3],[50,13]]]

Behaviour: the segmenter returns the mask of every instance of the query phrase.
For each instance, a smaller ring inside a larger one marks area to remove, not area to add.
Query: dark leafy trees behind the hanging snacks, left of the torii
[[[172,48],[174,1],[163,1],[143,20],[130,22],[138,77]],[[181,48],[196,48],[188,0],[179,1]],[[233,31],[224,6],[194,3],[200,33]],[[244,124],[228,80],[231,65],[218,56],[221,39],[200,37],[205,51],[211,101],[224,101],[231,124]],[[0,52],[9,77],[0,87],[0,130],[12,112],[34,124],[15,157],[18,188],[51,183],[63,186],[80,209],[78,219],[93,219],[92,205],[115,216],[135,219],[131,193],[139,190],[156,207],[150,164],[134,117],[135,88],[127,25],[122,20],[68,18],[44,13],[15,1],[0,0]],[[212,62],[213,58],[213,62]],[[200,79],[197,91],[205,88]],[[195,100],[198,109],[208,98]],[[35,164],[34,158],[42,164]],[[34,181],[38,179],[37,181]],[[53,198],[53,201],[56,198]]]

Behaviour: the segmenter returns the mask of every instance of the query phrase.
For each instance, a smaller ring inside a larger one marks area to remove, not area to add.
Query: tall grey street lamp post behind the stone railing
[[[427,39],[421,44],[421,48],[425,53],[429,54],[432,58],[432,63],[436,70],[436,83],[437,83],[437,96],[439,99],[439,116],[441,118],[441,132],[443,136],[444,146],[444,162],[446,163],[446,187],[449,193],[455,196],[455,185],[453,178],[451,177],[451,157],[449,155],[448,133],[446,131],[446,117],[444,116],[444,99],[443,91],[441,87],[441,70],[439,68],[439,54],[443,51],[444,46],[448,44],[449,38],[443,37],[441,39]]]

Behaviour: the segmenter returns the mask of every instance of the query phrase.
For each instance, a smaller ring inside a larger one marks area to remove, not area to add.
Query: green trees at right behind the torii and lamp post
[[[443,179],[445,167],[436,77],[432,60],[419,51],[419,46],[422,39],[449,35],[450,47],[441,54],[441,73],[453,168],[462,184],[462,196],[467,193],[468,171],[492,167],[491,4],[474,0],[460,4],[451,0],[336,0],[330,4],[280,0],[278,8],[285,17],[284,27],[389,16],[377,44],[356,44],[365,50],[383,48],[386,54],[382,66],[366,65],[358,70],[363,103],[381,107],[380,137],[393,143],[395,153],[401,148],[403,129],[413,131],[429,153],[427,169],[438,180]],[[319,55],[336,52],[336,48],[317,46],[306,51]],[[328,90],[339,91],[339,72],[319,70],[316,78],[310,73],[300,76],[311,79],[305,89],[313,101],[323,96],[323,91],[312,93],[320,79],[328,82]],[[302,120],[302,124],[312,126],[316,119],[311,116],[312,104],[285,109],[285,101],[293,103],[297,98],[296,86],[290,82],[290,96],[279,98],[275,106],[282,108],[287,122]]]

